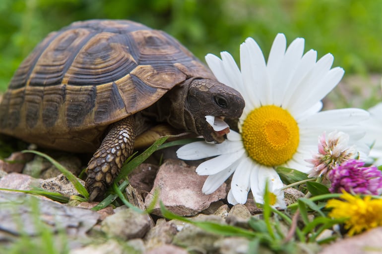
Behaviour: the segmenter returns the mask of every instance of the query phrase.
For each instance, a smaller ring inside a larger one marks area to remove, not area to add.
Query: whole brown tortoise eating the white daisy
[[[94,152],[85,188],[99,200],[150,123],[221,143],[227,130],[213,130],[205,116],[239,118],[244,105],[167,33],[128,20],[77,21],[50,33],[15,71],[0,133]]]

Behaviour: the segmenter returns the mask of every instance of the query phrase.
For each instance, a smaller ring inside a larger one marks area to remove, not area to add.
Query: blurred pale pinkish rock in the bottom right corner
[[[382,253],[382,227],[360,235],[339,240],[326,246],[319,254],[377,254]]]

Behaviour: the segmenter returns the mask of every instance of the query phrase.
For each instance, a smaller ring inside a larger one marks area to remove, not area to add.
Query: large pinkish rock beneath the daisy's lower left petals
[[[159,200],[167,209],[181,216],[195,215],[227,195],[225,184],[210,195],[203,194],[201,188],[205,179],[206,176],[195,173],[195,167],[178,159],[168,159],[160,166],[153,189],[145,199],[145,205],[147,207],[152,202],[155,190],[158,189]],[[152,213],[161,214],[158,203]]]

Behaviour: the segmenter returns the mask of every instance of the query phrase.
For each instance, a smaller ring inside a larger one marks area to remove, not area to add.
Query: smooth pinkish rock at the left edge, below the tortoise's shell
[[[36,179],[29,175],[10,173],[0,179],[0,188],[12,190],[31,190],[31,187],[39,187],[42,179]]]

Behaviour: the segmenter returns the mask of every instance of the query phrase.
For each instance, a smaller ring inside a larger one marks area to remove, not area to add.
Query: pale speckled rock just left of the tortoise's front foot
[[[78,179],[82,185],[85,185],[85,182],[81,179]],[[74,186],[70,183],[70,181],[64,176],[64,174],[60,174],[56,177],[43,180],[40,184],[40,187],[44,190],[50,192],[58,192],[65,196],[70,195],[79,195]]]

